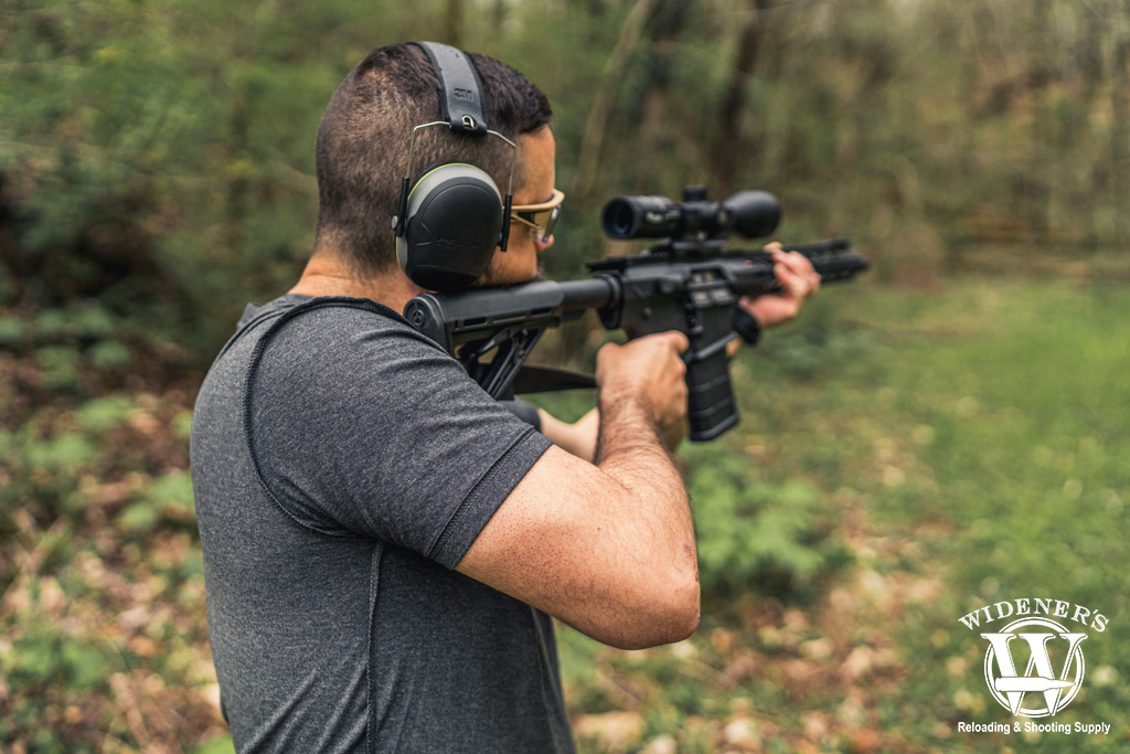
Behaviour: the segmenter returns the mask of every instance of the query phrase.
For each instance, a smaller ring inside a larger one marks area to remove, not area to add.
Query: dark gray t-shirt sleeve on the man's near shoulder
[[[447,566],[549,447],[447,354],[372,312],[306,312],[261,344],[247,440],[299,525]]]

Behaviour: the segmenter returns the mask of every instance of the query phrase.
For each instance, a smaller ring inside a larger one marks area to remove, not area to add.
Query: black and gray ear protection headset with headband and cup
[[[397,259],[420,287],[458,293],[486,271],[495,246],[506,251],[518,146],[490,130],[479,73],[466,53],[436,42],[411,44],[427,53],[440,79],[443,120],[412,129],[399,210],[392,219]],[[416,136],[421,129],[440,125],[459,138],[496,137],[511,146],[514,159],[505,199],[486,171],[467,163],[442,163],[409,185]]]

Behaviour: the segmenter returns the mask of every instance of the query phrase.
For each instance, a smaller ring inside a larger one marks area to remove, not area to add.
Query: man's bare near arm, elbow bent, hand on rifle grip
[[[601,349],[596,465],[550,447],[457,570],[614,647],[689,635],[694,525],[660,430],[686,413],[686,347],[667,332]]]

